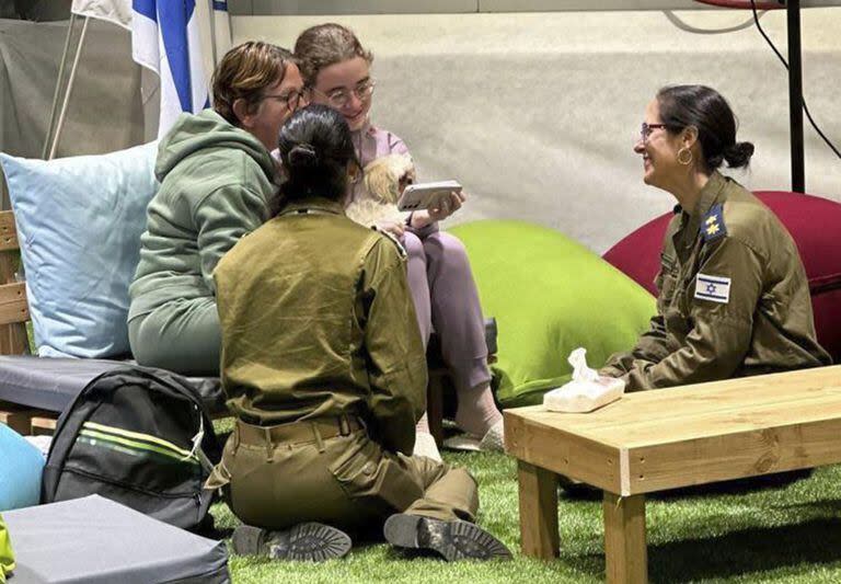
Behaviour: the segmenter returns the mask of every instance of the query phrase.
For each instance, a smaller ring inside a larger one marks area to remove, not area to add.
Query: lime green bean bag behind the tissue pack
[[[505,406],[539,403],[569,380],[579,346],[601,367],[648,329],[655,299],[563,233],[522,221],[484,220],[450,229],[468,250],[486,316],[499,329],[496,396]]]

